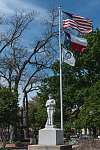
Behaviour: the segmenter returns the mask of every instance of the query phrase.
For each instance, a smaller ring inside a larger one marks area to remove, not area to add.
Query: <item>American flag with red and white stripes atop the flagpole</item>
[[[63,28],[71,27],[82,34],[92,32],[92,20],[85,17],[80,17],[67,12],[62,12]]]

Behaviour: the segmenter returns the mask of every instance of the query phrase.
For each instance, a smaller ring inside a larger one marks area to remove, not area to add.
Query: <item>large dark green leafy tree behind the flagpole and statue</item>
[[[81,35],[80,35],[81,36]],[[87,38],[88,46],[82,52],[74,51],[76,64],[74,67],[63,63],[63,118],[64,133],[72,134],[74,128],[80,132],[82,128],[93,129],[100,126],[100,31],[82,35]],[[42,81],[36,119],[43,128],[46,122],[45,103],[48,94],[52,93],[56,100],[54,124],[60,127],[60,80],[59,61],[51,69],[54,75]]]

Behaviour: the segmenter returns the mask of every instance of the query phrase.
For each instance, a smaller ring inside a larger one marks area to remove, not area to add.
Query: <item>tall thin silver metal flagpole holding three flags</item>
[[[61,50],[61,30],[60,30],[60,5],[59,5],[59,50],[60,50],[60,103],[61,103],[61,130],[63,130],[62,50]]]

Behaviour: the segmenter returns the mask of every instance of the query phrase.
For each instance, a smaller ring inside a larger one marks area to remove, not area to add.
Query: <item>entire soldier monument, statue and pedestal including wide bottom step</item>
[[[54,125],[56,101],[52,98],[52,94],[48,97],[45,105],[48,114],[45,128],[39,130],[38,145],[30,145],[28,150],[72,150],[71,145],[64,145],[63,130]]]

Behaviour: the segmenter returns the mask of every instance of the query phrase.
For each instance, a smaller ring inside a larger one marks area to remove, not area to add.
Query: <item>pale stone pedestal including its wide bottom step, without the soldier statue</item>
[[[71,145],[63,145],[63,131],[52,126],[39,130],[38,145],[29,145],[28,150],[72,150]]]

